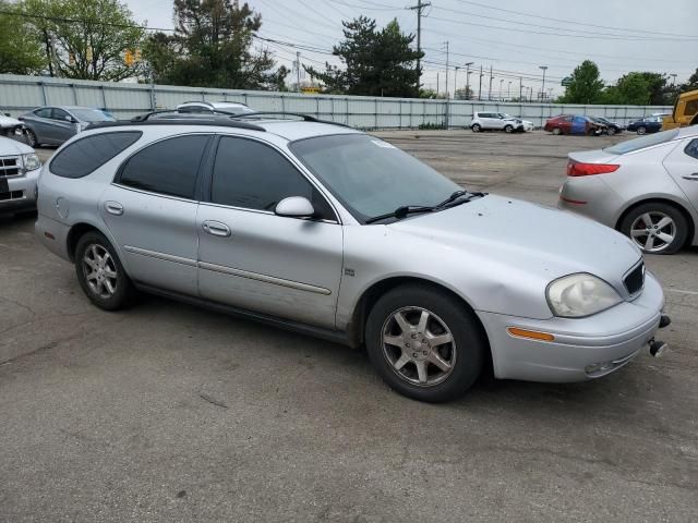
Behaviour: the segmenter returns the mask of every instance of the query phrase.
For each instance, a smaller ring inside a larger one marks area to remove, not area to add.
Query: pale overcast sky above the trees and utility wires
[[[423,0],[424,1],[424,0]],[[676,74],[685,82],[698,68],[698,0],[430,0],[422,17],[425,52],[422,85],[448,92],[466,85],[493,99],[518,96],[519,85],[540,96],[564,92],[562,78],[582,60],[593,60],[606,83],[629,71]],[[172,0],[127,0],[135,19],[151,27],[170,28]],[[242,0],[241,0],[242,3]],[[301,63],[340,64],[332,48],[341,38],[341,21],[363,14],[382,27],[397,19],[404,33],[417,32],[417,0],[249,0],[262,14],[257,40],[289,69]],[[280,44],[282,42],[282,44]],[[448,56],[446,53],[448,42]],[[294,46],[301,46],[293,47]],[[313,50],[310,50],[312,48]],[[456,72],[455,68],[459,68]],[[305,78],[309,80],[309,78]],[[673,82],[673,77],[670,80]],[[552,90],[550,90],[552,89]]]

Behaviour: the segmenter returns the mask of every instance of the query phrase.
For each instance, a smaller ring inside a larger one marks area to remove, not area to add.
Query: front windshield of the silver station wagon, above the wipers
[[[290,147],[361,221],[406,205],[433,206],[461,188],[394,145],[365,134],[305,138]]]

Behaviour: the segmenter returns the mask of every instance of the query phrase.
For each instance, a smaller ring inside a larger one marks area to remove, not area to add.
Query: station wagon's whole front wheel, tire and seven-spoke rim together
[[[458,398],[482,369],[486,344],[477,320],[455,297],[431,287],[405,285],[383,295],[365,335],[381,377],[416,400]]]

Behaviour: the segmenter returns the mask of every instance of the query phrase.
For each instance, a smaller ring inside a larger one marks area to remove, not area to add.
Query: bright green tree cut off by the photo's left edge
[[[35,74],[46,61],[31,20],[21,14],[19,5],[0,0],[0,71]]]

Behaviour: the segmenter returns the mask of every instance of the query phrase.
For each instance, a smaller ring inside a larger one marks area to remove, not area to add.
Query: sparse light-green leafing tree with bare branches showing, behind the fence
[[[137,76],[142,64],[127,64],[124,52],[140,49],[144,29],[119,0],[24,0],[51,75],[120,81]]]

